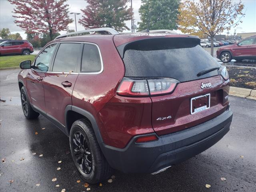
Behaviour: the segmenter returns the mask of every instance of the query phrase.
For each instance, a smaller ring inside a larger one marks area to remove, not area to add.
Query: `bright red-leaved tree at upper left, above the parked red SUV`
[[[68,24],[72,19],[68,16],[68,4],[66,0],[8,0],[15,5],[13,17],[18,18],[14,22],[31,33],[47,33],[50,40],[53,35],[62,30],[68,30]]]

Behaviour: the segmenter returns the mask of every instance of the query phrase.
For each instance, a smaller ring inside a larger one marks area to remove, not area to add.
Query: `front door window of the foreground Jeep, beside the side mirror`
[[[40,71],[48,71],[52,55],[57,44],[47,46],[36,58],[35,68]]]

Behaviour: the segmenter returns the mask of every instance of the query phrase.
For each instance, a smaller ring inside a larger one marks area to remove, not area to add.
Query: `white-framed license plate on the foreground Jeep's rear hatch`
[[[210,108],[211,94],[200,95],[190,99],[190,114],[195,114]]]

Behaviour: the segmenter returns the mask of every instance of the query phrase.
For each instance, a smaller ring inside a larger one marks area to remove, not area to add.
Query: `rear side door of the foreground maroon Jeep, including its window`
[[[64,111],[72,105],[72,91],[81,62],[81,43],[60,43],[53,65],[44,77],[44,96],[48,116],[65,125]]]

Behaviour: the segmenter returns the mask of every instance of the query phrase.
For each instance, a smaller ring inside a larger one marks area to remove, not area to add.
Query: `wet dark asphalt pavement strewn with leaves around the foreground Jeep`
[[[6,100],[0,103],[0,191],[86,191],[85,182],[79,178],[72,162],[68,137],[41,115],[36,120],[24,117],[17,83],[18,71],[0,71],[0,97]],[[116,172],[112,183],[106,181],[103,186],[90,185],[90,191],[255,191],[256,101],[230,96],[230,102],[234,112],[230,132],[210,149],[154,176]],[[3,158],[6,158],[5,163]],[[58,163],[60,160],[62,162]],[[61,169],[57,170],[58,167]],[[222,181],[222,177],[226,180]],[[52,182],[52,178],[57,178],[57,181]],[[10,184],[10,180],[14,182]],[[77,183],[77,180],[81,182]],[[36,186],[38,183],[40,186]],[[60,187],[56,187],[57,184]],[[206,188],[206,184],[211,187]]]

